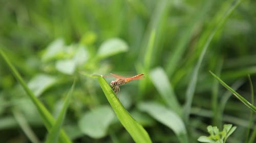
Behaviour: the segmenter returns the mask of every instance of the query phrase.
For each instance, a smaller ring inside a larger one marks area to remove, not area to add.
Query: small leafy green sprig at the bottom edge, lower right
[[[237,127],[231,124],[225,124],[223,130],[220,131],[218,127],[207,126],[207,131],[210,134],[209,136],[200,136],[198,141],[200,142],[209,142],[209,143],[225,143],[228,136],[230,136]]]

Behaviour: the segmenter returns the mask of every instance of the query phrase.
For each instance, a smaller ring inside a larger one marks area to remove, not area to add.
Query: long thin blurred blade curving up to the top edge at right
[[[192,104],[195,89],[196,89],[199,69],[200,69],[201,63],[203,61],[205,52],[206,52],[207,48],[209,47],[209,44],[210,44],[212,38],[214,38],[215,34],[218,32],[220,27],[224,24],[224,22],[227,20],[227,18],[230,16],[230,14],[234,11],[234,9],[237,8],[237,6],[240,3],[241,3],[241,1],[236,1],[236,3],[231,5],[231,7],[227,10],[225,15],[220,19],[218,24],[215,26],[214,30],[210,33],[206,42],[203,44],[203,50],[201,51],[201,54],[199,56],[196,66],[194,68],[192,78],[188,84],[188,88],[186,91],[186,101],[185,101],[185,105],[184,105],[184,112],[185,112],[185,121],[187,121],[187,122],[188,122],[189,112],[190,112],[191,104]]]

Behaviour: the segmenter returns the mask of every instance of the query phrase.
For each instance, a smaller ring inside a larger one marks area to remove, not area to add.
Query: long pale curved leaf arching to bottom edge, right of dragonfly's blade
[[[154,119],[172,129],[180,142],[188,141],[185,125],[174,111],[155,102],[142,102],[138,104],[138,107],[141,111],[147,112]]]

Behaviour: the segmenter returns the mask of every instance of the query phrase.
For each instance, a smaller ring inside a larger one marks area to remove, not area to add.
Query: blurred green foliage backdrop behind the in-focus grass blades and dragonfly
[[[133,142],[97,79],[81,72],[145,73],[123,85],[118,97],[153,142],[182,142],[168,126],[168,111],[184,121],[189,142],[207,135],[207,125],[224,123],[238,127],[228,142],[245,142],[253,136],[247,134],[255,130],[255,116],[250,122],[250,109],[209,73],[251,101],[247,74],[256,85],[256,1],[242,1],[222,19],[237,2],[2,0],[0,46],[54,117],[76,78],[63,123],[74,142]],[[38,112],[2,57],[0,81],[0,142],[44,141]]]

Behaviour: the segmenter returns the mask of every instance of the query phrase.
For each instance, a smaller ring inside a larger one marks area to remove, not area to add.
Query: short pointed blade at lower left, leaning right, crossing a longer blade
[[[53,125],[52,129],[50,130],[48,136],[47,136],[47,139],[46,139],[46,143],[54,143],[57,141],[58,139],[58,136],[59,136],[59,133],[60,133],[60,130],[61,130],[61,125],[65,119],[65,116],[66,116],[66,112],[67,112],[67,109],[68,109],[68,106],[69,106],[69,103],[70,103],[70,99],[72,97],[72,92],[74,90],[74,87],[75,87],[75,81],[63,103],[63,107],[62,109],[60,110],[60,113],[57,117],[57,120],[55,122],[55,124]]]

